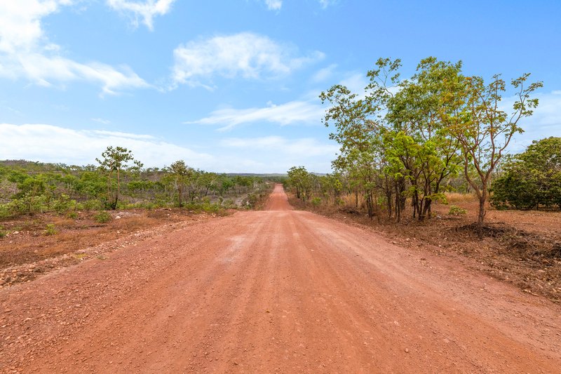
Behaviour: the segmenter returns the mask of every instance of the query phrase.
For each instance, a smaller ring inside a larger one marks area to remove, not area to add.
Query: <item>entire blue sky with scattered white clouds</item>
[[[561,136],[557,0],[0,0],[0,159],[328,173],[321,91],[380,57],[543,81],[511,152]],[[505,105],[512,102],[506,93]]]

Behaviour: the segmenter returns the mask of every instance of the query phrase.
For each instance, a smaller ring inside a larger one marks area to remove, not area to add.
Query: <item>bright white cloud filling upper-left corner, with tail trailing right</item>
[[[72,4],[72,0],[0,1],[0,77],[28,79],[41,86],[90,81],[110,94],[149,86],[127,66],[80,63],[60,55],[60,47],[49,43],[41,19]]]

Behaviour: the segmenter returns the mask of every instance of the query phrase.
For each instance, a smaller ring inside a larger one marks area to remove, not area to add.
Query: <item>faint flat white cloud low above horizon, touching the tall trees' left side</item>
[[[314,138],[287,139],[280,136],[263,138],[227,138],[220,142],[225,147],[241,149],[260,149],[293,156],[334,156],[339,150],[337,145],[322,144]]]

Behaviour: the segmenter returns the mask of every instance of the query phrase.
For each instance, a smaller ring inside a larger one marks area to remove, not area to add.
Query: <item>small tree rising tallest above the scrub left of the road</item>
[[[123,147],[107,147],[101,156],[102,159],[95,161],[100,163],[100,169],[107,173],[107,206],[115,210],[121,191],[121,173],[127,168],[138,170],[142,168],[142,163],[134,158],[133,151]]]

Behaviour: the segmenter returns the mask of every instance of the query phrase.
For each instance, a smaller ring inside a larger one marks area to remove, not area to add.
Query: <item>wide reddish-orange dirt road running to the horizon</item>
[[[280,185],[266,208],[0,290],[0,370],[560,373],[559,306]]]

